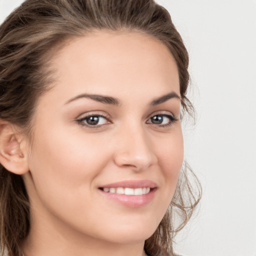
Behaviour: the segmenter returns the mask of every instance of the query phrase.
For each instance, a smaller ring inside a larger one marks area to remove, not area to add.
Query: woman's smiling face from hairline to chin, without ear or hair
[[[100,31],[73,39],[51,66],[55,83],[37,102],[24,174],[32,230],[145,240],[183,160],[172,55],[147,35]]]

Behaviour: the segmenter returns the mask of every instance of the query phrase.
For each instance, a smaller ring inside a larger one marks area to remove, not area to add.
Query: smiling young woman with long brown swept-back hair
[[[181,168],[187,67],[153,0],[26,0],[11,13],[0,27],[2,251],[174,255],[200,198]]]

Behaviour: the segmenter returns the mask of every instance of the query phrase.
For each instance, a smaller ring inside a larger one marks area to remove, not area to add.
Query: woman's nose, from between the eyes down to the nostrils
[[[126,129],[117,138],[114,162],[134,171],[146,170],[157,162],[153,145],[142,129]]]

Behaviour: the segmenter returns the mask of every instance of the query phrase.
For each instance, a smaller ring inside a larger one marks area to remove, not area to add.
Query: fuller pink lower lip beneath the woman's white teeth
[[[147,194],[141,194],[141,195],[117,194],[117,193],[105,192],[103,190],[100,190],[100,192],[102,192],[104,196],[106,196],[111,200],[114,200],[118,203],[121,203],[131,208],[136,208],[136,207],[142,207],[148,204],[149,202],[151,202],[154,198],[155,190],[156,188],[150,189],[150,191]]]

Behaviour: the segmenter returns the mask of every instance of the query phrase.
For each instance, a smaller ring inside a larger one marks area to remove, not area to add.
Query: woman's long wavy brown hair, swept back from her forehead
[[[98,29],[140,31],[163,42],[178,66],[183,110],[193,111],[186,97],[186,48],[167,10],[153,0],[26,0],[0,26],[0,119],[29,132],[36,101],[50,83],[46,53]],[[195,181],[195,191],[188,175]],[[148,255],[174,255],[173,237],[190,218],[200,195],[197,178],[184,164],[166,214],[145,241]],[[176,215],[180,221],[174,227]],[[0,165],[2,252],[22,255],[20,244],[28,232],[29,201],[22,177]]]

